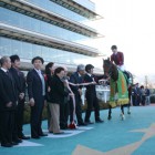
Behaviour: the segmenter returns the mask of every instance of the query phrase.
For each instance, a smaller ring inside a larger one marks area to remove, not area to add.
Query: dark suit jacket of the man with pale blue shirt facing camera
[[[27,83],[29,99],[33,97],[37,103],[42,101],[42,82],[38,72],[34,69],[29,71],[27,75]]]

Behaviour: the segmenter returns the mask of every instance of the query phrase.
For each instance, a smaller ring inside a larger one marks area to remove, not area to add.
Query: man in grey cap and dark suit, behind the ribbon
[[[74,84],[80,84],[83,82],[83,78],[82,75],[84,75],[85,73],[85,66],[83,64],[78,65],[76,72],[74,72],[71,76],[70,76],[70,82],[74,83]],[[81,108],[81,94],[82,94],[82,87],[81,86],[74,86],[74,85],[70,85],[72,92],[75,95],[75,113],[76,113],[76,118],[78,118],[78,125],[86,125],[83,122],[82,118],[82,108]],[[72,103],[72,99],[70,100],[70,122],[73,121],[73,103]]]

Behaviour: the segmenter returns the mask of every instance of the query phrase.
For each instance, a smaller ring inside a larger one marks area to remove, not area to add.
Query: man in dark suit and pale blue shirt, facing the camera
[[[46,136],[42,132],[42,111],[45,102],[45,82],[41,72],[43,59],[35,56],[32,59],[33,70],[29,71],[27,76],[29,102],[31,106],[31,137],[40,138]]]

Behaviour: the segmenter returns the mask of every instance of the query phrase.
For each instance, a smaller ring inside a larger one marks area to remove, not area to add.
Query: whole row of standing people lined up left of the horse
[[[103,76],[93,74],[92,64],[80,64],[76,72],[68,76],[65,66],[54,66],[50,62],[42,72],[43,59],[32,59],[33,69],[27,78],[20,71],[19,55],[2,56],[0,60],[0,143],[3,147],[12,147],[22,143],[22,140],[48,136],[42,131],[42,112],[48,111],[49,133],[63,134],[62,130],[71,127],[69,123],[79,126],[93,124],[90,120],[94,107],[95,123],[103,123],[100,117],[100,106],[95,84]],[[87,108],[82,117],[82,86],[86,87]],[[23,134],[23,112],[25,102],[25,87],[31,108],[30,128],[31,137]],[[75,120],[76,116],[76,120]]]

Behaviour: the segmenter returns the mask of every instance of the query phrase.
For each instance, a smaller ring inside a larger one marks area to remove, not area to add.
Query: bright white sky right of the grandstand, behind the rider
[[[100,51],[112,54],[111,45],[124,53],[126,70],[138,79],[155,80],[155,1],[154,0],[91,0],[104,17],[97,20]]]

